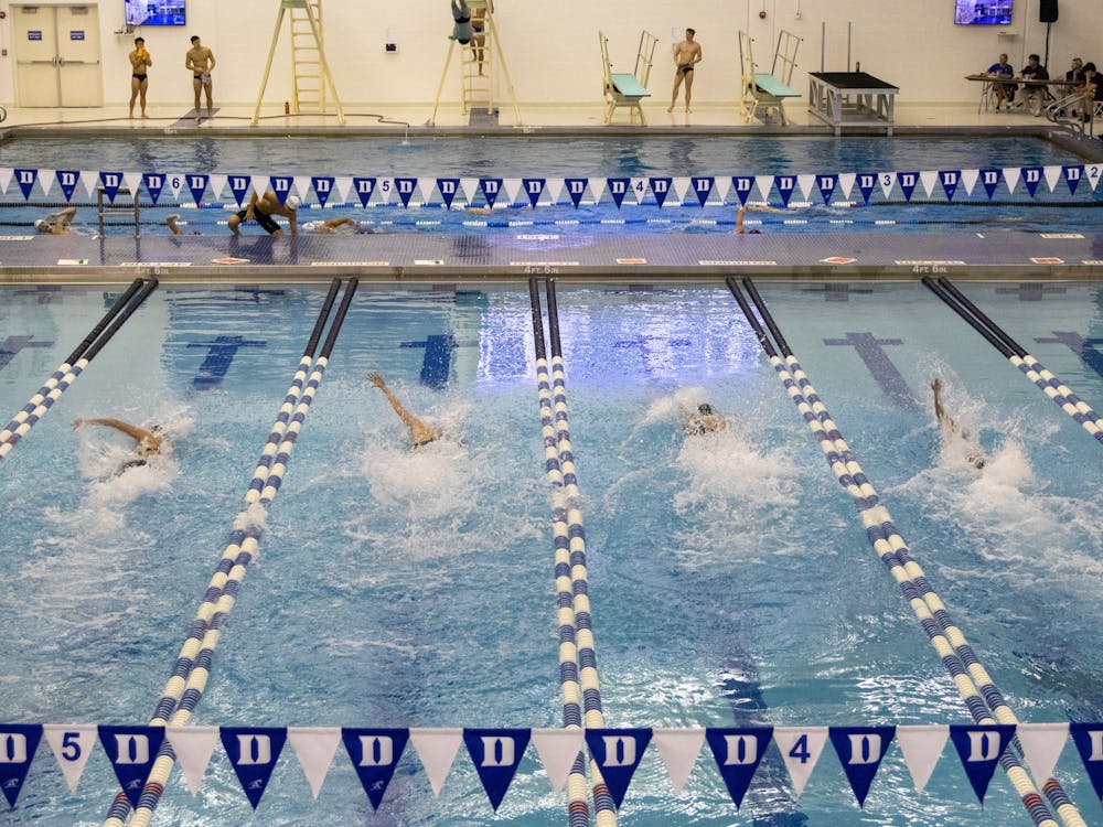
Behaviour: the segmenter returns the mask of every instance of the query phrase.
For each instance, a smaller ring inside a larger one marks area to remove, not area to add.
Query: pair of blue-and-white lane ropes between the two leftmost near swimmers
[[[149,723],[151,727],[186,726],[203,697],[211,675],[214,651],[222,636],[222,627],[237,601],[237,593],[245,579],[246,570],[259,552],[268,508],[279,492],[291,451],[318,387],[325,375],[329,354],[336,340],[344,313],[355,293],[356,279],[352,279],[345,291],[341,308],[330,327],[330,335],[322,350],[322,355],[315,362],[313,358],[314,348],[330,315],[339,287],[340,281],[334,279],[322,311],[319,313],[310,344],[299,361],[299,367],[277,414],[276,422],[265,441],[265,448],[245,496],[246,507],[238,512],[234,520],[229,544],[223,551],[215,573],[207,584],[203,601],[192,621],[188,638],[176,657],[172,676],[161,692],[153,718]],[[313,366],[312,370],[311,366]],[[308,373],[310,374],[309,380]],[[146,782],[138,807],[133,810],[130,827],[144,827],[150,823],[161,795],[164,793],[164,785],[168,783],[174,763],[175,754],[171,744],[165,740]],[[122,827],[129,815],[130,803],[126,795],[119,791],[107,818],[104,820],[104,827]]]

